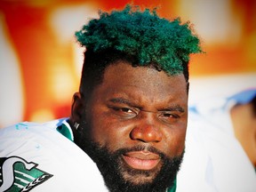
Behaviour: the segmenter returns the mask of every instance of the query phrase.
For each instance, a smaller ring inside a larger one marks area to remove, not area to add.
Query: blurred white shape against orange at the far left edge
[[[8,33],[4,15],[0,12],[0,128],[20,122],[24,109],[20,62]]]

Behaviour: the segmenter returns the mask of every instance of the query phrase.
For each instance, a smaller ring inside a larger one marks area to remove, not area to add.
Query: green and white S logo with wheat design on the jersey
[[[37,165],[19,156],[0,158],[0,192],[29,191],[53,176],[37,169]]]

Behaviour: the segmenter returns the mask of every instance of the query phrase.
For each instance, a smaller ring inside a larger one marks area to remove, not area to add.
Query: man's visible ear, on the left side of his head
[[[73,95],[70,121],[74,124],[80,123],[84,114],[85,106],[80,92]]]

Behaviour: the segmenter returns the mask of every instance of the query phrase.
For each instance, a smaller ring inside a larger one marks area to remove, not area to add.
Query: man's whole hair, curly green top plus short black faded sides
[[[189,55],[203,52],[189,22],[166,20],[156,9],[140,11],[139,6],[131,5],[123,11],[100,12],[100,19],[92,19],[76,31],[76,39],[86,48],[80,84],[80,92],[86,94],[100,84],[105,68],[117,60],[153,66],[169,76],[183,73],[188,82]]]

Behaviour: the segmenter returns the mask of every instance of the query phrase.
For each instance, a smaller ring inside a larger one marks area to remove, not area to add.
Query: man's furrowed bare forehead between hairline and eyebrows
[[[168,76],[156,68],[132,67],[125,61],[118,61],[106,68],[98,94],[133,97],[136,100],[188,99],[187,83],[183,74]],[[119,95],[118,95],[119,94]]]

